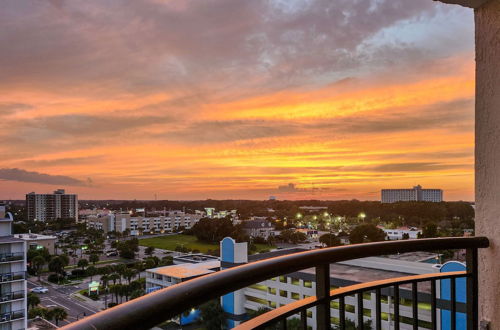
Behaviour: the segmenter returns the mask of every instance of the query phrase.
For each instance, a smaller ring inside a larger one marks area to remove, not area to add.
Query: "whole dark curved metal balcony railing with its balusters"
[[[436,314],[438,308],[451,311],[451,329],[455,329],[458,306],[455,299],[455,289],[456,279],[460,277],[466,278],[467,283],[465,306],[467,329],[477,329],[477,251],[479,248],[488,246],[489,241],[485,237],[430,238],[355,244],[294,253],[195,278],[94,314],[69,324],[64,329],[149,329],[211,299],[279,275],[290,274],[307,268],[316,269],[316,296],[296,301],[260,315],[241,324],[238,329],[260,329],[273,324],[279,324],[281,329],[286,329],[286,318],[295,314],[300,314],[302,326],[307,329],[306,311],[311,307],[316,308],[317,328],[330,329],[332,322],[330,302],[335,299],[339,300],[339,327],[344,329],[346,325],[345,298],[351,295],[357,296],[357,324],[359,329],[363,329],[363,293],[372,291],[375,292],[376,296],[376,313],[374,316],[372,315],[372,318],[375,320],[375,327],[381,329],[381,292],[388,288],[392,290],[394,296],[394,329],[399,329],[400,285],[411,285],[413,329],[418,329],[418,322],[416,321],[418,320],[417,302],[419,299],[417,284],[423,281],[431,282],[430,304],[433,329],[437,328]],[[466,250],[467,270],[465,272],[433,273],[393,278],[356,284],[330,291],[331,263],[404,252],[455,249]],[[448,301],[436,298],[436,282],[439,280],[450,281],[451,299]],[[438,306],[438,303],[440,306]]]

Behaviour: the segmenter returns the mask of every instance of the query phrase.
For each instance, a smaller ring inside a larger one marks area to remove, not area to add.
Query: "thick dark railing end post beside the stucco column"
[[[477,282],[477,249],[467,249],[467,329],[477,330],[478,319],[478,282]]]

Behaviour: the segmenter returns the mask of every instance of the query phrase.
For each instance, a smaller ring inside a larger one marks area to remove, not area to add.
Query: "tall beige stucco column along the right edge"
[[[479,252],[479,320],[500,329],[500,0],[475,9],[476,235],[490,239]]]

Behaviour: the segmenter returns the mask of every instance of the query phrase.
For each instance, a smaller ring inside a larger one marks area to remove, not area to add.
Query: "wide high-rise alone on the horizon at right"
[[[382,203],[442,201],[441,189],[422,189],[420,185],[412,189],[382,189]]]

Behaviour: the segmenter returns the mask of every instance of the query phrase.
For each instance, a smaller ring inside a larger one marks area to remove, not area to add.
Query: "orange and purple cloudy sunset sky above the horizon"
[[[473,33],[431,0],[4,0],[0,199],[473,200]]]

